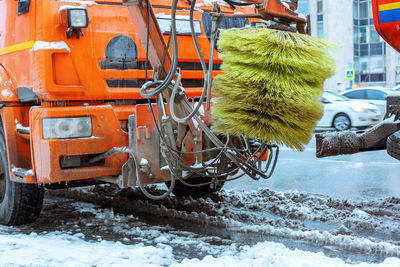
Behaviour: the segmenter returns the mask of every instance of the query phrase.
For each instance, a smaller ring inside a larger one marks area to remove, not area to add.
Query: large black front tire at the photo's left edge
[[[10,181],[3,126],[0,123],[0,224],[34,222],[43,204],[44,188]]]

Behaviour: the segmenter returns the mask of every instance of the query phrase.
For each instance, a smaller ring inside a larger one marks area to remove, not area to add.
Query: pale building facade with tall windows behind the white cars
[[[312,35],[341,46],[334,52],[336,74],[326,89],[400,83],[400,56],[376,32],[371,0],[310,0],[309,10]],[[346,80],[347,69],[355,69],[354,80]]]

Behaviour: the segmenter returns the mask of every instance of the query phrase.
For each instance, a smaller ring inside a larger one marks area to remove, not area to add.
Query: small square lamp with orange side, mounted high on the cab
[[[82,29],[89,25],[89,16],[84,7],[62,6],[59,13],[60,24],[64,28]]]

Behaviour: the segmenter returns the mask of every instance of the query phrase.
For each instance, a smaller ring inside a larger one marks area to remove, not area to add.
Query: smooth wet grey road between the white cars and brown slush
[[[400,161],[386,150],[317,159],[312,140],[303,152],[281,148],[270,179],[241,179],[224,186],[247,191],[259,187],[352,199],[400,197]]]

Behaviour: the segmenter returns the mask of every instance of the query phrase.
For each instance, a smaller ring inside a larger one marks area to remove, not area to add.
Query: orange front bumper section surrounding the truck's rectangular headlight
[[[96,164],[91,157],[113,147],[128,145],[128,133],[121,128],[122,113],[135,111],[135,106],[123,111],[111,105],[33,107],[30,109],[31,153],[34,183],[57,183],[96,177],[113,177],[121,173],[128,156],[119,153]],[[44,118],[90,117],[92,135],[85,138],[44,139]],[[126,115],[125,115],[126,116]]]

